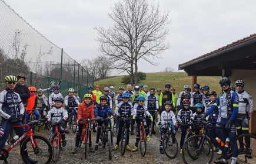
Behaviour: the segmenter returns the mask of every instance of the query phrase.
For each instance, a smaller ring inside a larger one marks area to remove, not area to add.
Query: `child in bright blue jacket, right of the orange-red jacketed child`
[[[101,95],[101,97],[99,97],[99,104],[96,105],[96,108],[94,111],[94,115],[95,115],[95,118],[97,119],[97,124],[98,124],[95,151],[98,151],[99,135],[101,135],[101,126],[103,122],[105,122],[105,121],[102,121],[101,118],[107,118],[108,114],[112,115],[113,117],[115,116],[112,110],[109,109],[107,102],[108,102],[108,97],[106,95]],[[111,105],[112,105],[112,102],[111,102]]]

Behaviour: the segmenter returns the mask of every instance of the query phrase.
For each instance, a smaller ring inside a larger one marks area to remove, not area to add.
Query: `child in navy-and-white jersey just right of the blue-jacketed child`
[[[132,106],[132,103],[129,102],[129,98],[130,98],[130,95],[128,93],[122,94],[123,101],[119,102],[117,107],[115,108],[115,114],[121,118],[118,124],[117,143],[113,148],[114,151],[119,149],[119,142],[121,140],[122,128],[124,127],[124,121],[122,121],[122,118],[128,118],[128,120],[126,121],[126,128],[127,128],[126,149],[127,151],[131,151],[131,148],[129,147],[129,127],[130,127],[132,115],[134,113],[134,107]]]

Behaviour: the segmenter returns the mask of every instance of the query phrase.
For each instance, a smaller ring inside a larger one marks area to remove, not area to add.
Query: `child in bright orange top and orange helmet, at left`
[[[30,97],[28,98],[28,105],[26,106],[26,120],[25,124],[28,124],[29,117],[32,113],[35,114],[36,119],[39,119],[39,113],[35,110],[37,106],[37,98],[35,95],[36,88],[35,87],[28,87],[28,90],[30,92]],[[28,129],[27,127],[24,127],[24,129]]]

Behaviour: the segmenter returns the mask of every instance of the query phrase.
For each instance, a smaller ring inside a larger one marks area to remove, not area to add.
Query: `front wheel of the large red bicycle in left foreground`
[[[23,163],[29,163],[26,160],[25,150],[31,159],[37,160],[38,163],[51,163],[54,159],[54,149],[52,143],[42,135],[33,135],[36,148],[34,149],[30,137],[26,138],[21,144],[21,159]]]

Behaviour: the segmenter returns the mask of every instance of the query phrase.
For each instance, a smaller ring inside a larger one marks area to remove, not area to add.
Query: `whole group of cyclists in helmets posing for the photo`
[[[39,119],[39,114],[35,110],[37,101],[41,101],[43,111],[46,108],[47,115],[42,112],[42,117],[47,118],[47,124],[55,122],[65,122],[63,127],[59,124],[59,132],[62,136],[62,146],[67,145],[65,134],[67,131],[67,119],[68,114],[73,108],[77,115],[78,121],[80,119],[95,119],[92,122],[93,132],[97,132],[95,148],[92,148],[92,143],[89,143],[89,152],[98,151],[99,149],[99,136],[101,135],[101,126],[103,121],[101,118],[117,117],[118,123],[118,135],[117,142],[115,143],[113,150],[119,149],[119,142],[121,140],[122,128],[127,126],[127,151],[138,151],[139,142],[139,130],[140,121],[135,121],[136,118],[143,119],[143,124],[146,130],[147,141],[150,141],[148,125],[152,121],[152,125],[155,125],[157,117],[155,115],[159,112],[159,128],[161,132],[161,141],[159,145],[160,153],[164,153],[162,148],[162,137],[167,131],[163,125],[167,122],[174,126],[172,130],[173,136],[175,136],[178,130],[178,123],[181,125],[181,139],[180,148],[182,153],[182,146],[186,131],[189,128],[188,123],[192,120],[198,122],[207,119],[212,126],[223,127],[221,129],[213,129],[210,131],[211,136],[220,138],[224,142],[229,142],[232,146],[232,162],[236,163],[238,156],[238,146],[236,141],[236,133],[238,135],[248,134],[249,119],[254,111],[254,102],[252,97],[247,91],[244,90],[244,81],[235,81],[235,88],[231,88],[230,78],[223,77],[220,79],[219,84],[222,89],[222,93],[217,97],[215,91],[210,91],[209,86],[200,86],[200,84],[194,84],[194,92],[188,85],[184,86],[184,91],[179,94],[175,93],[175,88],[171,87],[171,84],[166,83],[165,89],[155,89],[148,86],[139,84],[132,90],[132,85],[128,84],[125,90],[124,87],[119,87],[118,91],[114,92],[114,86],[104,87],[103,93],[100,91],[100,86],[88,86],[88,93],[84,95],[83,99],[77,96],[78,91],[73,88],[68,89],[68,95],[64,98],[59,93],[59,83],[55,85],[54,81],[51,82],[51,87],[46,89],[35,87],[27,87],[28,92],[25,91],[25,85],[19,83],[19,79],[25,80],[24,74],[18,75],[18,83],[15,76],[6,76],[6,90],[0,94],[0,114],[2,117],[2,127],[0,131],[0,152],[8,138],[9,131],[14,125],[22,124],[25,115],[25,124],[28,122],[29,115],[34,112],[36,118]],[[24,93],[19,91],[15,92],[16,86],[22,86]],[[50,91],[49,99],[43,94],[44,91]],[[35,95],[35,92],[38,94]],[[29,96],[28,96],[29,93]],[[23,98],[23,100],[22,100]],[[48,101],[49,100],[49,101]],[[65,102],[65,108],[64,108]],[[25,107],[25,108],[24,108]],[[113,110],[115,107],[115,110]],[[129,134],[134,135],[134,124],[137,124],[135,140],[135,146],[131,149],[129,146]],[[97,126],[97,129],[96,129]],[[195,134],[198,134],[198,127],[194,125],[192,130]],[[24,134],[22,128],[15,128],[17,135]],[[52,127],[52,134],[54,134],[55,128]],[[80,138],[82,133],[82,124],[78,124],[76,138]],[[156,134],[154,126],[152,128],[152,134]],[[89,140],[91,142],[91,132],[89,132]],[[172,143],[175,143],[175,139],[172,139]],[[75,148],[72,153],[78,152],[79,139],[75,141]],[[214,145],[214,149],[211,151],[218,151],[217,145]],[[221,154],[221,151],[218,152]],[[36,163],[33,161],[31,163]],[[228,163],[226,159],[217,161],[215,163]]]

